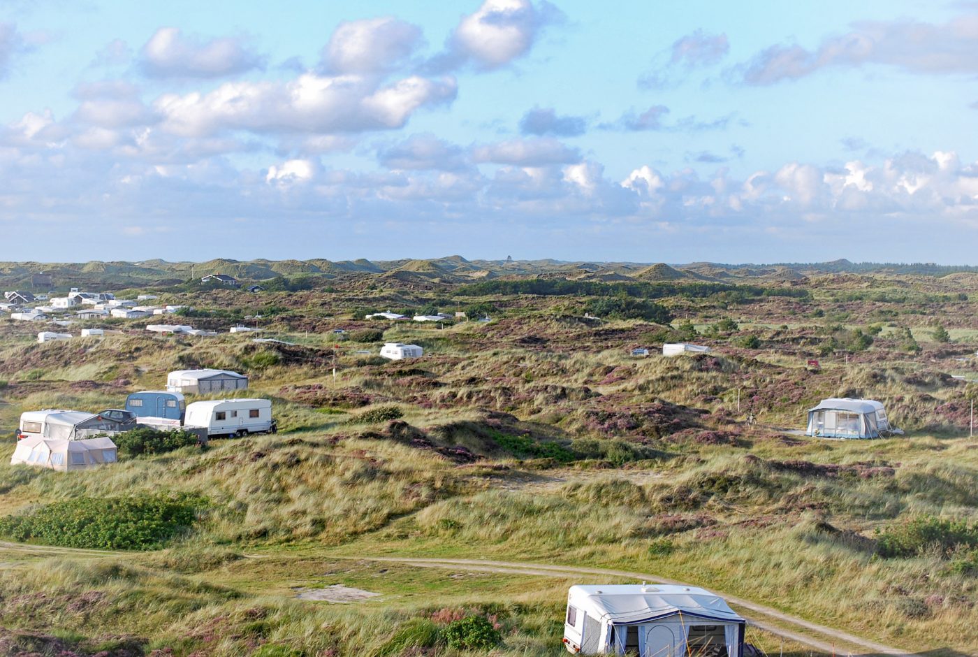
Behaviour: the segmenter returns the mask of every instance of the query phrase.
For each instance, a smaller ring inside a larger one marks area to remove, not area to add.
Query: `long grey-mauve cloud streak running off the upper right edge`
[[[774,84],[829,67],[877,64],[912,73],[978,72],[978,14],[947,23],[910,19],[864,21],[827,37],[815,50],[797,44],[774,45],[736,68],[747,84]]]

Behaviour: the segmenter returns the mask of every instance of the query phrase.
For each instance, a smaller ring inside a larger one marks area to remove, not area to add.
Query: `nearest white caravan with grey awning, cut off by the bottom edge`
[[[571,652],[640,657],[742,657],[746,621],[708,590],[674,585],[570,587],[563,642]]]

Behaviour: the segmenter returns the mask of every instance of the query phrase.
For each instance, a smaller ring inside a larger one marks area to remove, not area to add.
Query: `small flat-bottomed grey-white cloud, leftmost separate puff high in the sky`
[[[160,27],[140,53],[142,69],[151,77],[222,77],[262,66],[262,58],[239,38],[201,41],[178,27]]]

